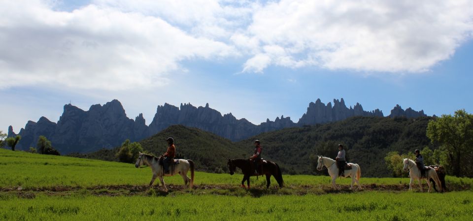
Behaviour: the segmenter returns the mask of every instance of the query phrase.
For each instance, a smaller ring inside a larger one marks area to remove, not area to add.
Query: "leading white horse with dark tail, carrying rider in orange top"
[[[188,188],[189,187],[189,182],[190,182],[190,189],[193,188],[194,186],[194,161],[190,159],[178,159],[179,163],[172,166],[169,165],[170,172],[169,174],[164,173],[163,166],[160,165],[159,163],[159,158],[153,157],[147,154],[142,154],[139,153],[138,159],[136,160],[135,167],[138,168],[141,165],[146,165],[151,168],[153,171],[153,177],[151,178],[151,182],[149,182],[148,189],[153,185],[154,180],[156,177],[159,177],[159,180],[161,181],[161,184],[163,184],[163,187],[165,191],[168,191],[168,188],[166,188],[166,184],[164,183],[163,176],[173,176],[176,174],[181,174],[182,179],[184,179],[184,185]],[[187,171],[191,170],[191,178],[187,176]]]

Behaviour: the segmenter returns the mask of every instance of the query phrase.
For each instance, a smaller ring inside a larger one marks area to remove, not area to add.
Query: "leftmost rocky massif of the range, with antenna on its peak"
[[[146,130],[143,116],[140,114],[136,121],[129,119],[118,100],[103,106],[92,105],[88,111],[67,104],[57,124],[45,117],[37,123],[29,121],[18,133],[22,139],[17,147],[20,150],[36,147],[39,136],[43,135],[62,154],[91,152],[118,146],[126,139],[141,140],[146,137]],[[9,136],[13,134],[12,129]]]

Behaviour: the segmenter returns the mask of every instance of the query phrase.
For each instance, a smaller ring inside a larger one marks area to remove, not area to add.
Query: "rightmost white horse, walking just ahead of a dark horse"
[[[404,163],[404,171],[409,170],[409,177],[410,177],[410,182],[409,182],[409,190],[412,189],[414,186],[414,180],[417,180],[419,182],[419,187],[420,191],[424,191],[422,189],[422,180],[426,180],[427,185],[429,185],[429,192],[432,190],[432,184],[429,182],[429,179],[432,178],[436,184],[438,184],[440,191],[442,190],[442,185],[439,180],[439,176],[437,176],[437,172],[435,171],[434,168],[430,167],[429,170],[427,170],[427,177],[421,177],[420,170],[417,168],[417,165],[415,162],[411,159],[405,158],[403,160]]]

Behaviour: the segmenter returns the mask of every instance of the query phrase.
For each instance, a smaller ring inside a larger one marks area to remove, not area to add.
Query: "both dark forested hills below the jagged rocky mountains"
[[[426,128],[432,118],[353,117],[344,121],[317,126],[287,128],[262,133],[234,143],[197,128],[170,126],[154,136],[140,141],[145,151],[156,155],[166,152],[166,138],[176,141],[179,157],[193,159],[201,171],[227,171],[227,158],[248,158],[253,152],[253,140],[263,145],[263,158],[276,161],[284,173],[317,174],[311,165],[316,155],[335,158],[337,145],[346,147],[349,162],[358,163],[364,177],[388,177],[384,157],[390,151],[413,152],[430,144]],[[435,149],[435,147],[431,147]],[[116,160],[117,149],[101,150],[87,158]],[[400,162],[402,163],[402,162]]]

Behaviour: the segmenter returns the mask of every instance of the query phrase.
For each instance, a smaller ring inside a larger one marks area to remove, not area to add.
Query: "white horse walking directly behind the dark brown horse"
[[[332,177],[332,185],[334,185],[334,188],[336,188],[335,180],[338,177],[338,167],[337,167],[336,162],[337,161],[335,161],[331,158],[326,158],[326,157],[322,157],[322,156],[318,156],[318,160],[317,160],[317,170],[320,171],[320,170],[323,169],[323,167],[327,167],[327,169],[329,171],[329,175],[330,175],[330,177]],[[355,182],[358,185],[359,189],[362,189],[361,186],[360,186],[360,182],[359,182],[360,177],[361,177],[361,168],[360,168],[360,166],[356,163],[348,163],[348,164],[351,165],[352,169],[345,170],[345,175],[343,177],[351,177],[351,187],[350,187],[350,189],[353,189],[353,183],[355,183]]]

